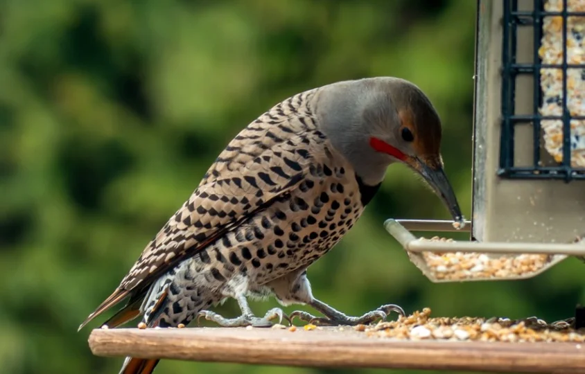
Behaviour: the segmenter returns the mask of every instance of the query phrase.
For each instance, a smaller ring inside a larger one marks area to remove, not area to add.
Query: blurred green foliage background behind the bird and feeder
[[[446,170],[469,217],[474,27],[471,0],[0,1],[0,372],[117,373],[121,359],[87,347],[99,322],[79,323],[232,136],[305,89],[375,75],[418,84],[444,121]],[[585,299],[576,260],[527,281],[430,283],[383,229],[388,217],[448,213],[392,166],[365,216],[311,267],[317,297],[350,314],[392,302],[547,320]],[[232,301],[219,310],[238,312]],[[157,368],[207,371],[374,372]]]

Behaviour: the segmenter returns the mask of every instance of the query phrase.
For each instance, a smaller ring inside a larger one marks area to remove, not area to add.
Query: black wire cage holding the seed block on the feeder
[[[579,55],[585,38],[585,11],[578,9],[577,1],[571,0],[523,1],[530,2],[530,10],[523,10],[522,4],[518,8],[518,0],[502,1],[502,128],[498,175],[509,179],[585,180],[585,165],[576,163],[574,154],[575,150],[585,148],[585,90],[579,90],[579,84],[582,81],[585,84],[585,55],[582,59]],[[519,36],[520,32],[526,35],[526,31],[530,31],[532,40]],[[556,45],[551,44],[551,39]],[[526,40],[533,43],[532,58],[518,62],[518,44]],[[573,78],[575,74],[578,75]],[[516,96],[525,94],[516,90],[518,79],[523,77],[532,78],[534,84],[532,109],[528,114],[519,114],[516,108]],[[582,113],[579,110],[581,91]],[[518,166],[515,162],[514,142],[525,141],[515,136],[518,126],[532,127],[534,144],[529,165]],[[585,150],[581,154],[585,159]]]

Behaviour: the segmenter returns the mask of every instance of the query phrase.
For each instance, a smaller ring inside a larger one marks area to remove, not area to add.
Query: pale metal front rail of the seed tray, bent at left
[[[478,252],[478,253],[545,253],[585,256],[585,244],[506,243],[506,242],[430,242],[416,238],[397,220],[384,222],[390,233],[404,249],[411,252]]]

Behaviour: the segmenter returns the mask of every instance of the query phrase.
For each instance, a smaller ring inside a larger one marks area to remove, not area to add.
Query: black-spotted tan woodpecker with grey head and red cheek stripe
[[[356,325],[404,314],[396,304],[351,317],[313,296],[307,269],[356,223],[387,168],[403,163],[464,222],[440,152],[442,123],[416,84],[395,77],[326,84],[286,98],[252,121],[218,155],[189,199],[146,245],[83,328],[128,300],[103,323],[141,317],[148,328],[204,318],[217,326],[272,326],[283,317]],[[256,316],[250,298],[309,305],[289,316]],[[239,317],[211,309],[235,299]],[[120,373],[152,373],[158,359],[127,357]]]

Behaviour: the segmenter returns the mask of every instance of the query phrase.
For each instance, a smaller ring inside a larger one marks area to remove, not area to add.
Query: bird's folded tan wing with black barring
[[[293,134],[250,157],[241,168],[224,168],[222,175],[199,186],[146,246],[114,293],[80,328],[130,294],[146,291],[161,274],[275,200],[286,198],[306,173],[314,172],[317,164],[332,157],[327,144],[324,135],[316,130]]]

